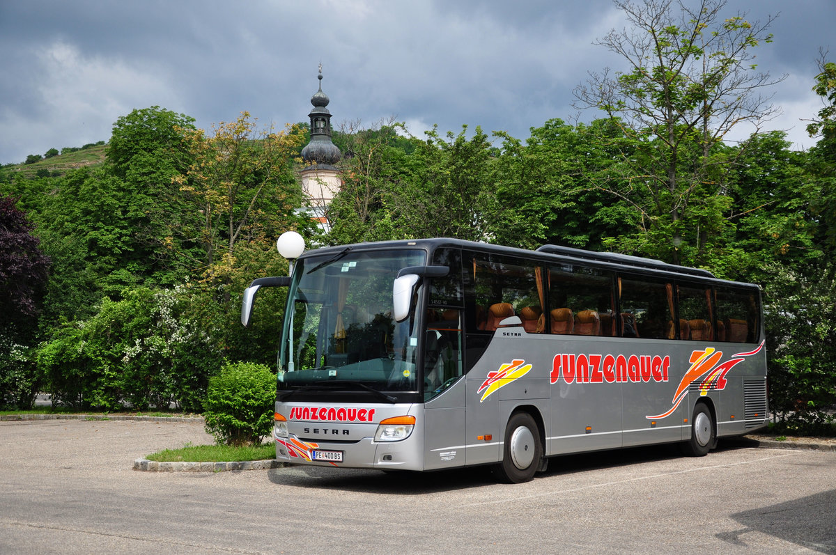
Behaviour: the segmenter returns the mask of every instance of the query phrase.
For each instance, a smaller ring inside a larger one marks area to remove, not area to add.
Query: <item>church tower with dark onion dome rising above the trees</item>
[[[306,211],[311,213],[314,220],[319,221],[320,227],[328,231],[329,222],[325,212],[343,183],[336,167],[343,155],[331,142],[331,113],[327,108],[330,100],[322,92],[322,64],[319,64],[317,79],[319,90],[311,97],[314,108],[308,114],[311,140],[302,149],[302,159],[306,164],[301,172],[302,191]]]

